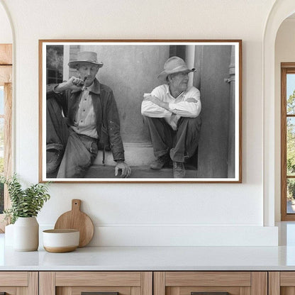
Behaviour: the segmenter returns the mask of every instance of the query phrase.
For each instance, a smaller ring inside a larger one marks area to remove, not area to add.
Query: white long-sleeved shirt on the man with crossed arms
[[[196,87],[189,87],[175,99],[169,91],[169,85],[163,84],[152,90],[150,94],[169,104],[169,111],[154,104],[152,101],[143,101],[141,113],[152,118],[165,118],[167,123],[177,130],[177,121],[180,117],[196,118],[201,112],[200,91]]]

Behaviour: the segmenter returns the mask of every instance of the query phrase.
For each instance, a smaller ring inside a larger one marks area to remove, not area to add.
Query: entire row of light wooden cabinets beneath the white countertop
[[[294,295],[295,272],[0,272],[6,295],[268,295],[268,288]]]

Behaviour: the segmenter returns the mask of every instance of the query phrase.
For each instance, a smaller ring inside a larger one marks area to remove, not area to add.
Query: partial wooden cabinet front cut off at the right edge
[[[295,294],[295,272],[269,272],[269,295],[280,294]]]

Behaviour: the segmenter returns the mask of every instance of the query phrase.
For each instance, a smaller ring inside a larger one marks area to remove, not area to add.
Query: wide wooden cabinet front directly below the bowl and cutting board
[[[152,272],[40,272],[40,295],[152,295]]]

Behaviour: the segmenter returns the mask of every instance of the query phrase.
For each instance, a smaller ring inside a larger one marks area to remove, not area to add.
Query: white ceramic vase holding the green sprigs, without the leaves
[[[35,217],[18,217],[13,226],[13,250],[35,251],[39,246],[39,224]]]

